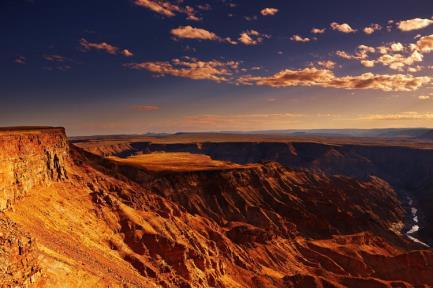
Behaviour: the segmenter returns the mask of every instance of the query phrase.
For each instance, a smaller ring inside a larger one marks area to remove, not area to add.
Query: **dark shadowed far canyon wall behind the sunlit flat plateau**
[[[156,139],[158,142],[158,139]],[[429,145],[325,144],[317,142],[199,142],[152,143],[130,142],[121,150],[105,147],[103,154],[121,157],[140,153],[190,152],[209,155],[212,159],[238,164],[274,161],[292,169],[314,173],[345,175],[358,179],[376,176],[389,182],[401,201],[413,199],[419,210],[419,237],[433,243],[433,149]],[[88,143],[85,148],[92,147]],[[119,145],[119,144],[118,144]],[[429,148],[430,147],[430,148]],[[105,151],[105,152],[104,152]]]

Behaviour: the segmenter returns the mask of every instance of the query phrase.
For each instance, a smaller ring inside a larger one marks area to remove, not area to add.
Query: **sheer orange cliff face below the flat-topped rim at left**
[[[68,166],[63,128],[0,130],[0,211],[33,187],[66,179]]]

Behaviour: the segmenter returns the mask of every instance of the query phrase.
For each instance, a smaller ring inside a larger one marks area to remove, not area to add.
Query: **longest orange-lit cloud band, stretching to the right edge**
[[[243,76],[238,82],[270,87],[318,86],[342,89],[376,89],[382,91],[412,91],[429,83],[430,77],[364,73],[358,76],[336,76],[329,69],[285,69],[271,76]]]

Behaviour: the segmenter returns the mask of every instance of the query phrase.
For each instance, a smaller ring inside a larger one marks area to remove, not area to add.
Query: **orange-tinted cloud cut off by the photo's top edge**
[[[195,10],[191,6],[181,7],[166,0],[134,0],[134,4],[152,10],[166,17],[173,17],[176,13],[182,13],[188,20],[198,21]]]

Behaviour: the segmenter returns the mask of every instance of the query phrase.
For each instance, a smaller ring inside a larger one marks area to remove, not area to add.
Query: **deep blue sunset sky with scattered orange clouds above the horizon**
[[[2,0],[0,126],[433,128],[431,0]]]

